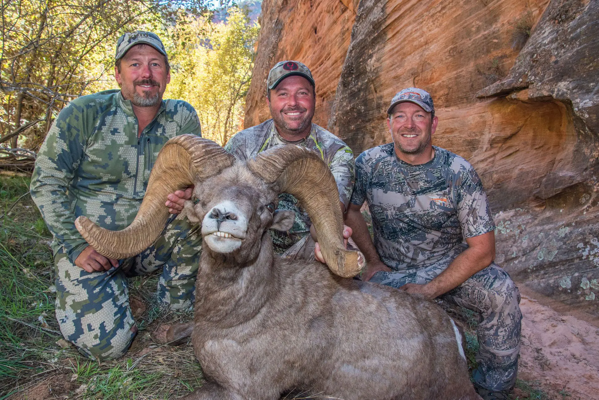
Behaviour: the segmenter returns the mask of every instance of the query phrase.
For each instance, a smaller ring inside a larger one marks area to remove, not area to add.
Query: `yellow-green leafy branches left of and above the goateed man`
[[[204,12],[206,2],[0,0],[0,134],[35,122],[20,134],[20,144],[37,149],[68,101],[114,86],[110,75],[121,34],[176,25],[181,14]],[[17,147],[17,136],[11,147]]]

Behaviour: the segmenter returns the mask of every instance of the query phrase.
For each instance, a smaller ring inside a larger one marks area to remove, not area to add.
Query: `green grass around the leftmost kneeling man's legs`
[[[98,363],[74,346],[60,347],[52,235],[30,196],[21,197],[28,186],[28,178],[0,175],[0,400],[40,385],[52,388],[50,397],[82,400],[171,399],[200,386],[201,368],[189,344],[164,346],[150,337],[161,323],[191,317],[158,307],[156,274],[129,281],[131,295],[147,310],[125,357]]]

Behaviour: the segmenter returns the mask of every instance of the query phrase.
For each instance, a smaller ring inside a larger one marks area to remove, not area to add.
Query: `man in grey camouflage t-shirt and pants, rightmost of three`
[[[367,258],[362,279],[478,313],[477,392],[507,399],[516,381],[522,314],[518,288],[492,262],[495,224],[480,178],[465,159],[432,146],[438,119],[424,90],[401,90],[388,117],[393,143],[356,159],[346,219]],[[364,201],[374,244],[360,213]]]

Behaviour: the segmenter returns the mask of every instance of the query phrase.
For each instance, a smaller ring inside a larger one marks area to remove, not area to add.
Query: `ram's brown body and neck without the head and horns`
[[[477,398],[437,305],[316,263],[261,254],[232,272],[204,254],[192,343],[206,376],[232,390],[186,399],[279,399],[291,389],[299,398]]]

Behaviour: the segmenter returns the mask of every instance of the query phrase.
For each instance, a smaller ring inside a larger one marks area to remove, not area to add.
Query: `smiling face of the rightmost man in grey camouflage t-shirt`
[[[396,105],[387,120],[387,126],[397,156],[413,163],[415,157],[418,159],[418,156],[431,154],[431,136],[437,129],[437,123],[437,117],[431,119],[431,113],[424,111],[418,104],[406,101]],[[409,158],[410,161],[404,158]],[[428,161],[429,159],[424,162]]]

